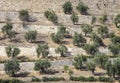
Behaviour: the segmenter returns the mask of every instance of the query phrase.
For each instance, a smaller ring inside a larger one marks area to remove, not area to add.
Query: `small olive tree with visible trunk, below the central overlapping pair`
[[[68,48],[65,45],[60,45],[56,50],[56,53],[60,53],[61,57],[65,57],[65,54],[68,52]]]

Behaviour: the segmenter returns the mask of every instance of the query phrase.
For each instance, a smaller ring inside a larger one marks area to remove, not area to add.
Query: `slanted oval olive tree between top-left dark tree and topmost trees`
[[[58,22],[58,17],[57,17],[57,15],[55,14],[54,11],[51,11],[51,10],[45,11],[45,12],[44,12],[44,16],[45,16],[48,20],[52,21],[53,23],[57,23],[57,22]]]

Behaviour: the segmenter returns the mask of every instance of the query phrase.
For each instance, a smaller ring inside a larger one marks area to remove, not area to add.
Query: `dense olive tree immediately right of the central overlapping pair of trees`
[[[75,46],[83,46],[86,43],[86,39],[82,34],[74,33],[73,44]]]

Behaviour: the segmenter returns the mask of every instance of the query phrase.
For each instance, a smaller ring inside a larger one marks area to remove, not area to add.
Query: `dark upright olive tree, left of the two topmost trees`
[[[62,6],[65,14],[71,14],[73,12],[73,7],[70,1],[67,1]]]

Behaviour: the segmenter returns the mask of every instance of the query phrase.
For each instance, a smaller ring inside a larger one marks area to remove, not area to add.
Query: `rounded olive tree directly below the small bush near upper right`
[[[108,33],[109,33],[109,30],[108,30],[107,26],[100,26],[100,27],[98,28],[98,34],[100,34],[100,36],[101,36],[102,38],[107,37],[107,36],[108,36]]]

